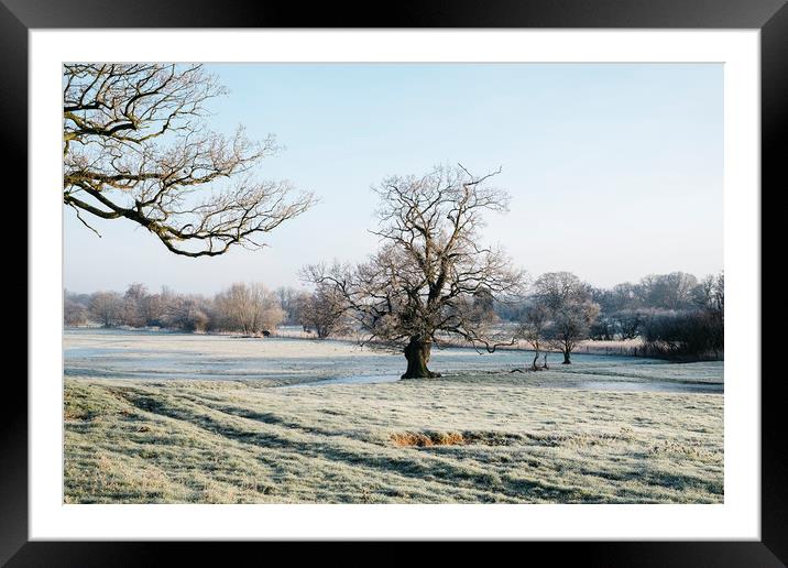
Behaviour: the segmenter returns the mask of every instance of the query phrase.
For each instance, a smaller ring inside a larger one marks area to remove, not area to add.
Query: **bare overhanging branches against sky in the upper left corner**
[[[225,92],[200,65],[64,65],[64,204],[91,229],[83,214],[129,219],[186,256],[261,247],[314,198],[253,179],[273,138],[206,128],[205,103]]]

